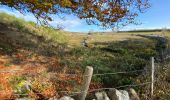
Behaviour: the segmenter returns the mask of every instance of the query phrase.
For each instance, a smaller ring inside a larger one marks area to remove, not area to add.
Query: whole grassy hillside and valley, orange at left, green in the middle
[[[81,89],[86,66],[92,66],[94,74],[150,69],[150,58],[159,57],[159,50],[168,48],[168,44],[163,46],[158,40],[139,36],[155,34],[169,39],[168,33],[75,34],[38,26],[5,13],[0,13],[0,18],[1,100],[22,97],[49,99],[53,96],[59,98],[66,94],[72,95],[71,91]],[[84,39],[87,39],[88,47],[82,46]],[[164,100],[170,95],[169,62],[165,61],[160,66],[165,67],[158,71],[155,98]],[[77,76],[68,77],[67,74]],[[137,72],[95,76],[90,90],[140,84],[149,80],[150,71],[148,74]],[[23,89],[27,82],[31,83],[33,91]],[[135,87],[135,90],[142,100],[149,99],[148,85]],[[91,100],[93,94],[88,97]]]

